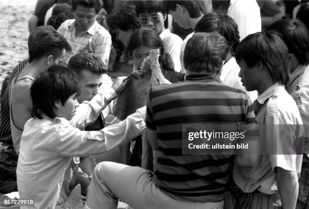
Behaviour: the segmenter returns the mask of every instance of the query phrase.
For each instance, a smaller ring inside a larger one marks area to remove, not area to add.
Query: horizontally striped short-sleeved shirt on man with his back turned
[[[147,100],[147,128],[157,130],[155,183],[174,198],[224,199],[232,155],[182,155],[183,124],[254,124],[251,101],[241,90],[207,76],[153,87]],[[255,127],[255,126],[254,126]]]

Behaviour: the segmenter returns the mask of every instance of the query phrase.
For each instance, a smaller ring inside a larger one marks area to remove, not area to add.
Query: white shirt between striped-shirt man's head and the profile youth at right
[[[239,71],[240,67],[237,64],[235,57],[232,57],[230,58],[229,61],[227,61],[223,65],[220,80],[222,81],[222,83],[224,83],[229,87],[233,87],[235,89],[241,89],[249,96],[251,102],[254,102],[254,100],[258,98],[258,92],[257,91],[248,92],[246,88],[242,86],[241,80],[238,77]]]

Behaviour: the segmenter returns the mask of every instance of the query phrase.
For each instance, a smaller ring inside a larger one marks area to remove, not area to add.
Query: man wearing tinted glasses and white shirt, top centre
[[[175,71],[180,72],[182,39],[176,34],[171,33],[170,29],[165,29],[164,21],[167,18],[167,12],[164,8],[163,1],[138,1],[135,12],[141,27],[150,28],[156,31],[161,37],[165,46],[165,51],[173,58]]]

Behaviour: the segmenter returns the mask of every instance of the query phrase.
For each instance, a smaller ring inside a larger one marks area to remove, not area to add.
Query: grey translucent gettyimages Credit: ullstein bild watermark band
[[[309,127],[299,124],[185,124],[182,154],[302,155],[305,130]]]

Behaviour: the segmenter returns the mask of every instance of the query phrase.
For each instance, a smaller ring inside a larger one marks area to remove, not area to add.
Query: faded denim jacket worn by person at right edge
[[[290,75],[290,83],[286,87],[287,92],[295,100],[304,130],[308,137],[309,131],[309,65],[298,65]],[[309,154],[309,139],[305,139],[304,152]]]

